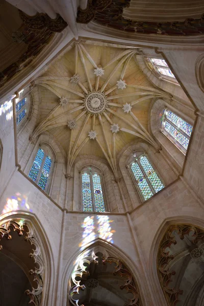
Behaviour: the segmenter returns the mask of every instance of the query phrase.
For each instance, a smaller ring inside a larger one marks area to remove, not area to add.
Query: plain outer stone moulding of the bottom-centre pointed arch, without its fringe
[[[105,256],[108,256],[110,259],[115,258],[119,259],[122,263],[125,263],[126,268],[131,271],[132,276],[137,284],[138,292],[141,298],[142,305],[148,304],[148,289],[146,288],[146,284],[142,277],[142,272],[139,267],[132,261],[132,259],[119,247],[113,245],[103,239],[96,239],[91,243],[87,244],[86,247],[81,250],[78,249],[75,253],[72,254],[69,261],[66,263],[62,274],[62,284],[64,284],[61,288],[61,305],[67,305],[68,294],[67,289],[70,285],[69,279],[71,278],[74,265],[77,263],[77,259],[83,258],[86,254],[102,252]],[[127,290],[127,289],[126,289]],[[137,305],[137,303],[133,303]]]

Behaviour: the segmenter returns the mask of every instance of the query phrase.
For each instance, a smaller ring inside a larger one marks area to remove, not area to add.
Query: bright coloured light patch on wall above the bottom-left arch
[[[11,198],[7,198],[7,203],[4,206],[2,214],[6,214],[9,212],[18,211],[18,210],[27,210],[27,211],[33,212],[27,203],[27,197],[24,195],[21,196],[19,192],[16,193]]]

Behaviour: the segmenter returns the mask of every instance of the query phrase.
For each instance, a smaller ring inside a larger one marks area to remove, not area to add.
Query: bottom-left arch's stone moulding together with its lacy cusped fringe
[[[32,213],[27,214],[18,211],[15,214],[11,212],[2,215],[0,220],[0,240],[3,237],[11,240],[14,232],[17,232],[19,236],[24,235],[24,240],[30,243],[32,248],[29,257],[33,258],[34,261],[33,268],[29,273],[33,275],[33,282],[36,286],[35,288],[32,287],[32,291],[25,291],[30,297],[31,305],[53,305],[52,292],[54,289],[55,271],[52,263],[54,258],[43,226]],[[4,245],[3,242],[2,244]],[[0,251],[2,249],[3,247],[0,245]],[[19,261],[17,264],[19,265]]]

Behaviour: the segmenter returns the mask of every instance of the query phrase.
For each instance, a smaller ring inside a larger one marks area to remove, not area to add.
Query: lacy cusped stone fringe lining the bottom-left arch
[[[24,226],[28,228],[28,232],[24,230]],[[34,282],[36,283],[36,288],[32,287],[32,291],[26,290],[25,294],[30,297],[30,304],[35,306],[40,306],[41,294],[43,288],[42,275],[44,270],[43,260],[41,258],[41,251],[38,241],[34,237],[34,232],[29,224],[24,220],[7,220],[4,223],[0,223],[0,239],[6,237],[7,240],[12,239],[12,232],[16,231],[19,236],[24,234],[25,241],[29,241],[32,247],[32,252],[29,254],[29,257],[33,258],[34,266],[33,269],[29,271],[33,275]],[[0,250],[2,249],[0,245]]]

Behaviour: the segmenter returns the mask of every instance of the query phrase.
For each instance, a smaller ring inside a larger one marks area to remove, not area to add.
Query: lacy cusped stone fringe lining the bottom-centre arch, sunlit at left
[[[85,255],[85,257],[81,258],[80,261],[77,264],[77,267],[75,267],[74,272],[71,275],[71,283],[72,287],[69,291],[69,300],[71,304],[74,306],[84,306],[79,304],[79,300],[73,299],[73,295],[79,294],[80,290],[85,290],[85,285],[80,285],[81,279],[79,281],[76,280],[82,278],[82,276],[88,276],[89,271],[86,270],[87,264],[90,263],[98,264],[97,256],[95,255],[95,252],[92,251]],[[112,264],[115,263],[115,271],[113,272],[113,275],[119,275],[121,277],[125,278],[124,284],[120,286],[120,289],[125,289],[127,293],[132,293],[133,297],[129,299],[129,303],[125,303],[124,306],[142,306],[141,298],[139,295],[138,287],[134,281],[134,277],[132,273],[123,265],[123,263],[116,257],[109,256],[106,251],[104,251],[103,254],[103,264]],[[86,266],[84,265],[86,264]]]

